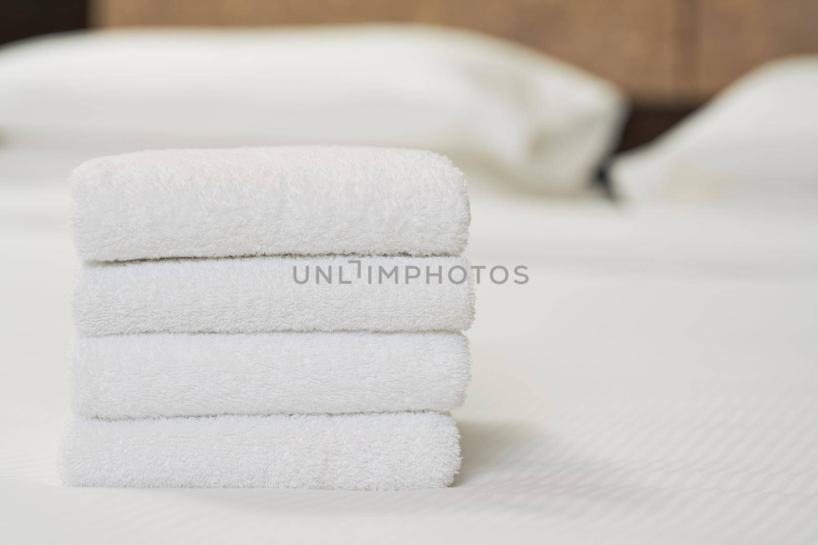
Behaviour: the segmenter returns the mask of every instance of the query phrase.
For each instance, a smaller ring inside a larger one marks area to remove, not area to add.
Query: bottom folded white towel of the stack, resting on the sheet
[[[460,468],[448,414],[72,417],[65,485],[144,488],[441,488]]]

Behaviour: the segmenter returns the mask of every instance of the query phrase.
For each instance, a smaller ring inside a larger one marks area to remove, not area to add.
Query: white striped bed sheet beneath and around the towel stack
[[[477,192],[472,261],[531,280],[479,286],[454,487],[65,489],[76,261],[65,186],[22,183],[36,166],[0,161],[5,543],[818,538],[818,220]]]

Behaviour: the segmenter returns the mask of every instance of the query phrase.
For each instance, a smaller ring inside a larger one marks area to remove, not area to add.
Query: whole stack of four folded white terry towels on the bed
[[[448,159],[143,151],[84,163],[71,191],[66,485],[452,483],[474,287]]]

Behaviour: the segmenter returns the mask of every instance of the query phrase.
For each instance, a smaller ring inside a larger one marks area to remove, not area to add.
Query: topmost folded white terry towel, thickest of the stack
[[[470,221],[462,172],[423,150],[148,150],[83,163],[71,193],[86,261],[457,255]]]

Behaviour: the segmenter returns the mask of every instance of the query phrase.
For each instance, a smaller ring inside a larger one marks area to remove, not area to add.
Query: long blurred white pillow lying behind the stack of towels
[[[524,47],[402,25],[62,35],[0,52],[0,74],[7,141],[419,147],[556,192],[591,180],[623,104]]]

